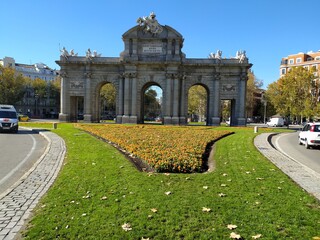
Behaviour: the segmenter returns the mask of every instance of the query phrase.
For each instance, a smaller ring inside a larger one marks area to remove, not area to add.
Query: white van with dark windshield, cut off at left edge
[[[18,132],[19,120],[14,106],[0,104],[0,132]]]

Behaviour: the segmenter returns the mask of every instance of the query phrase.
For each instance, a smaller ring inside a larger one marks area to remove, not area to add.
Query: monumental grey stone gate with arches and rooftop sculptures
[[[122,35],[120,57],[101,57],[97,52],[78,56],[61,51],[60,121],[76,121],[79,101],[85,122],[100,121],[100,89],[112,83],[116,89],[116,122],[143,123],[145,90],[157,85],[163,91],[163,123],[187,124],[188,91],[201,85],[207,91],[207,125],[219,125],[221,100],[231,100],[231,124],[246,124],[247,72],[252,66],[245,52],[223,58],[222,52],[208,58],[186,58],[183,37],[175,29],[160,25],[154,13],[139,18],[137,26]]]

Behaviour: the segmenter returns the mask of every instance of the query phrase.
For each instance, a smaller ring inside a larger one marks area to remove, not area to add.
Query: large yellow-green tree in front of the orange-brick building
[[[267,97],[281,115],[313,117],[319,107],[319,82],[313,69],[292,68],[285,76],[270,84]]]

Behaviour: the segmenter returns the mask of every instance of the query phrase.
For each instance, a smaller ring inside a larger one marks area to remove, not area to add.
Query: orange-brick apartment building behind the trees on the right
[[[287,74],[292,67],[314,68],[315,76],[320,76],[320,50],[317,52],[297,53],[282,58],[280,64],[280,77]]]

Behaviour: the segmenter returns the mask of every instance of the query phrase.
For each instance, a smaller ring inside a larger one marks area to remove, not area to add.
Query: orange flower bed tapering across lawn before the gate
[[[211,145],[231,134],[209,127],[77,124],[76,127],[116,144],[156,172],[202,172]]]

